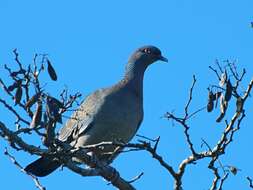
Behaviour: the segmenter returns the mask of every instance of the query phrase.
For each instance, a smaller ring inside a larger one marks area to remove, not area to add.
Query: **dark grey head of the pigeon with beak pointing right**
[[[130,57],[129,62],[141,62],[148,66],[158,60],[168,62],[157,47],[148,45],[137,49]]]

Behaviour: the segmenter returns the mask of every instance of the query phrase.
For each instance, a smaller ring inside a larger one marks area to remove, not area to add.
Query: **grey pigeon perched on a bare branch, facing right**
[[[58,140],[75,148],[100,142],[128,143],[143,120],[143,79],[145,70],[156,61],[168,62],[160,49],[153,45],[138,48],[126,64],[124,77],[108,88],[98,89],[88,95],[59,131]],[[93,150],[93,155],[110,164],[116,146]],[[61,162],[42,156],[26,166],[25,171],[38,177],[52,173]]]

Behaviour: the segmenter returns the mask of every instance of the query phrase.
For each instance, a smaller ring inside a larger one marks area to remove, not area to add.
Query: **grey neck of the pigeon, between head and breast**
[[[143,97],[143,77],[147,66],[143,63],[129,62],[126,66],[124,81],[125,85],[140,98]]]

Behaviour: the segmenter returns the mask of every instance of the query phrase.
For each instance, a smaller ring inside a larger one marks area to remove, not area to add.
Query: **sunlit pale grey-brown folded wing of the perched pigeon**
[[[72,114],[66,125],[59,131],[59,140],[67,141],[69,138],[75,139],[80,134],[86,133],[89,130],[93,124],[94,116],[103,104],[104,91],[104,89],[97,90],[87,96],[78,110]]]

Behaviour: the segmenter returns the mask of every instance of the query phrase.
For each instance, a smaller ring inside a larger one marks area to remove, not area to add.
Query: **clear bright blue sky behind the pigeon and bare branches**
[[[138,133],[151,138],[160,135],[159,153],[177,167],[189,155],[182,128],[173,127],[161,116],[171,110],[182,113],[193,74],[198,81],[191,110],[206,104],[206,87],[214,82],[208,65],[216,58],[238,60],[238,67],[247,69],[245,82],[251,79],[252,7],[251,0],[1,1],[0,76],[4,75],[3,64],[13,63],[14,48],[25,64],[31,63],[35,53],[48,53],[59,77],[58,82],[47,84],[50,93],[57,95],[66,85],[85,96],[119,80],[133,50],[145,44],[158,46],[169,63],[157,63],[146,72],[145,118]],[[224,165],[242,169],[237,176],[230,176],[224,189],[247,189],[245,177],[253,177],[252,103],[250,99],[247,118],[221,159]],[[190,133],[198,150],[202,150],[201,138],[210,145],[219,138],[224,125],[214,122],[217,114],[202,112],[191,120]],[[0,115],[0,120],[14,129],[2,106]],[[1,139],[1,189],[36,189],[33,181],[3,155],[5,146]],[[36,159],[11,152],[23,166]],[[202,161],[187,168],[185,189],[210,187],[213,176],[206,164]],[[172,189],[170,175],[147,153],[123,154],[113,166],[125,179],[144,172],[134,184],[137,189]],[[41,183],[48,190],[113,189],[100,177],[83,178],[67,169],[41,179]]]

